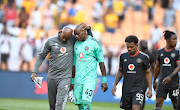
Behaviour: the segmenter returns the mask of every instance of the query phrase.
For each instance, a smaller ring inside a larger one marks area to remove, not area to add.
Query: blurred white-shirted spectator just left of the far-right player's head
[[[151,30],[151,41],[153,45],[156,45],[162,37],[162,30],[157,25]]]

